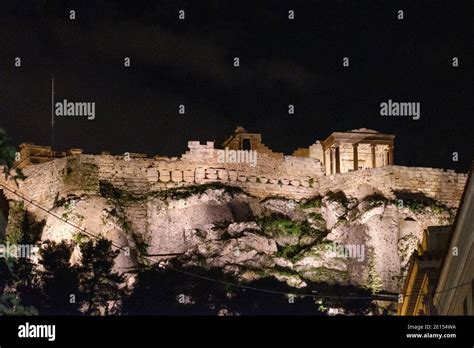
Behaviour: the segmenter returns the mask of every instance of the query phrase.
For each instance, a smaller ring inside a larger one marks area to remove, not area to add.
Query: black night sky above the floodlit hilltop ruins
[[[59,150],[176,156],[240,125],[291,154],[364,127],[397,136],[396,164],[466,172],[473,71],[473,1],[8,0],[0,10],[0,128],[15,145],[50,145],[54,74],[56,101],[96,103],[93,121],[56,118]],[[420,120],[380,116],[388,99],[420,102]]]

